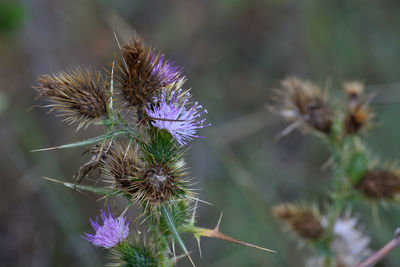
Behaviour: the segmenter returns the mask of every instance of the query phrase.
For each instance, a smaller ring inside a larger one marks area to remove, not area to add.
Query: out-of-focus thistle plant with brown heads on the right
[[[333,106],[327,90],[288,77],[271,108],[291,121],[278,137],[301,128],[320,139],[331,153],[325,166],[332,168],[334,177],[324,203],[281,203],[273,208],[276,218],[296,234],[302,247],[313,251],[307,266],[355,266],[371,256],[370,238],[353,207],[357,203],[379,207],[394,203],[400,195],[399,170],[372,158],[363,140],[373,125],[371,98],[359,82],[344,83],[343,92],[344,99],[334,101],[343,104]]]

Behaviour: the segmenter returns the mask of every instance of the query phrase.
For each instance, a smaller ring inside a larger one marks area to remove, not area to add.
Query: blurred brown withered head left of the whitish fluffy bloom
[[[315,208],[281,203],[273,208],[274,215],[287,223],[301,238],[317,240],[323,234],[321,217]]]

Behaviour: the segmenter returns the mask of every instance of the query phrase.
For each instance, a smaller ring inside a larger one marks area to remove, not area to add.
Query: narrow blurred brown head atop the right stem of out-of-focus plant
[[[344,121],[346,134],[357,134],[371,124],[374,117],[369,108],[369,101],[363,96],[364,86],[359,82],[344,83],[347,95],[347,114]]]

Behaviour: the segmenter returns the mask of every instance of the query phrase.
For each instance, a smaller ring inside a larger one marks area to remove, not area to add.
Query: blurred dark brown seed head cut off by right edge
[[[399,171],[369,170],[361,177],[356,188],[367,198],[391,200],[400,192]]]

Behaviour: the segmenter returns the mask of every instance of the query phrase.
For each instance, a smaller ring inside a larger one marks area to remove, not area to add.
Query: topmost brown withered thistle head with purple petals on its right
[[[183,79],[181,68],[139,38],[123,44],[121,54],[116,68],[117,87],[130,106],[143,109],[161,88]]]

